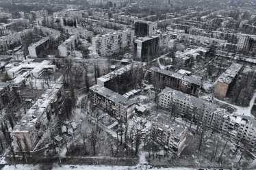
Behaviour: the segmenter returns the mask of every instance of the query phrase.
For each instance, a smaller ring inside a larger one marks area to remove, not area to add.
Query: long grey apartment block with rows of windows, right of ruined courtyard
[[[160,107],[170,109],[172,114],[180,115],[190,121],[192,119],[192,122],[203,122],[209,128],[214,128],[222,115],[226,114],[225,109],[212,102],[169,87],[159,94],[158,104]]]

